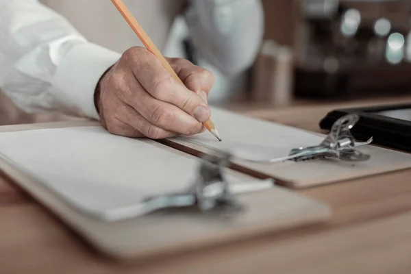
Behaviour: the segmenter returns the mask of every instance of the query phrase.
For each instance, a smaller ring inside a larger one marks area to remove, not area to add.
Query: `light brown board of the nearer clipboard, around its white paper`
[[[74,122],[7,126],[0,127],[0,134],[43,128],[90,126],[98,127],[98,124]],[[148,142],[179,157],[198,159],[158,142]],[[219,246],[292,227],[324,223],[332,214],[329,207],[319,201],[273,186],[261,192],[238,195],[238,200],[247,210],[228,219],[218,214],[199,214],[195,210],[173,209],[108,222],[90,218],[87,214],[75,210],[64,199],[55,195],[55,192],[38,182],[38,179],[22,172],[8,161],[0,160],[0,169],[36,201],[73,228],[97,251],[116,260],[147,260],[169,253]],[[255,179],[236,171],[227,172],[238,178]]]

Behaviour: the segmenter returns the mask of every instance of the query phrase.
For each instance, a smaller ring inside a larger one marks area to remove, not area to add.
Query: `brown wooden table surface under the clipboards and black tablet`
[[[406,100],[246,113],[318,132],[319,120],[334,108]],[[96,253],[0,175],[0,273],[411,273],[410,176],[411,170],[399,171],[297,191],[332,207],[327,224],[121,264]]]

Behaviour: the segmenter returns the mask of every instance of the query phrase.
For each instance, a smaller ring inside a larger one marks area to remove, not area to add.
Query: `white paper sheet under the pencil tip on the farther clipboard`
[[[216,140],[210,132],[172,140],[179,142],[179,139],[210,149],[231,151],[234,156],[245,160],[264,161],[287,157],[292,149],[298,147],[319,145],[325,138],[295,127],[252,119],[218,108],[212,109],[212,121],[219,130],[222,142]]]

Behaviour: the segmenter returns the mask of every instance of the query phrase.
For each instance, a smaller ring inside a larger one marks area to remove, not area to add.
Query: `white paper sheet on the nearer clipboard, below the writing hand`
[[[147,197],[183,192],[200,164],[101,127],[1,133],[0,157],[78,210],[110,219],[138,216]]]

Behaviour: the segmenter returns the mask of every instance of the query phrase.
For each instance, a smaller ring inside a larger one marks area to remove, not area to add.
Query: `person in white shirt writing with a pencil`
[[[203,130],[214,84],[208,69],[169,58],[186,87],[174,82],[110,1],[41,2],[0,0],[0,88],[9,97],[0,95],[0,124],[59,113],[101,120],[121,136],[165,138]],[[227,77],[246,71],[260,49],[260,0],[125,4],[160,51],[181,14],[196,53]]]

